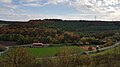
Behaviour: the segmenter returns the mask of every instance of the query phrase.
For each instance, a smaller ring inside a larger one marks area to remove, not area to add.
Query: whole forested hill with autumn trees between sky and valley
[[[33,42],[93,44],[92,41],[95,40],[99,44],[99,39],[120,33],[118,21],[45,19],[11,23],[0,24],[0,41],[14,41],[17,44]]]

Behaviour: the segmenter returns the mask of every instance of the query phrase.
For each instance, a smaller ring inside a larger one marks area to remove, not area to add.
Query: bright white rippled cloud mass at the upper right
[[[91,14],[92,17],[96,15],[97,19],[120,20],[120,0],[71,0],[69,2],[71,7],[80,12],[79,15],[86,16],[83,18],[88,19]]]

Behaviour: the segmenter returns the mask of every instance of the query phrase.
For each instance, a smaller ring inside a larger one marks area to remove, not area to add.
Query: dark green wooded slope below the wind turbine
[[[34,22],[33,22],[34,23]],[[120,30],[119,22],[105,21],[52,21],[36,25],[37,27],[47,27],[71,32],[97,32]]]

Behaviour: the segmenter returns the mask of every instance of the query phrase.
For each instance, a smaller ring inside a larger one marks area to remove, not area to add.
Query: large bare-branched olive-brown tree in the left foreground
[[[33,57],[27,53],[25,48],[12,48],[5,57],[6,64],[9,67],[29,67],[32,64]]]

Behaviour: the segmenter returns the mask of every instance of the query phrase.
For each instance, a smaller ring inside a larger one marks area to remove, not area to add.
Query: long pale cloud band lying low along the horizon
[[[47,15],[47,14],[15,14],[15,13],[0,14],[0,20],[28,21],[31,19],[95,20],[95,15],[93,14]],[[97,14],[97,20],[119,20],[119,15]]]

